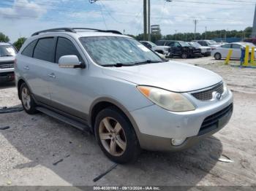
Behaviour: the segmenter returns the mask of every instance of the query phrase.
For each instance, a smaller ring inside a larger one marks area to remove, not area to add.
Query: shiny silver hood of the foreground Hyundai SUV
[[[222,77],[212,71],[174,61],[102,70],[104,74],[137,85],[160,87],[174,92],[200,90],[222,81]]]

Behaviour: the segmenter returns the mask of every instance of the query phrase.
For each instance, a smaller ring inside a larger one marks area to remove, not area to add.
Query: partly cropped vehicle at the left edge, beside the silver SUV
[[[0,42],[0,82],[14,80],[14,61],[17,54],[15,47],[6,42]]]

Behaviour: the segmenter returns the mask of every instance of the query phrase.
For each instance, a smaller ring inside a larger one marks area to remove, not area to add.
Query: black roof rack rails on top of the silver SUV
[[[119,32],[119,31],[101,30],[101,29],[96,29],[96,28],[51,28],[51,29],[44,30],[44,31],[37,31],[34,34],[32,34],[31,36],[35,36],[35,35],[38,35],[41,33],[46,33],[46,32],[58,32],[58,31],[66,31],[66,32],[76,33],[75,30],[91,30],[91,31],[97,31],[97,32],[101,32],[101,33],[121,34],[121,32]]]

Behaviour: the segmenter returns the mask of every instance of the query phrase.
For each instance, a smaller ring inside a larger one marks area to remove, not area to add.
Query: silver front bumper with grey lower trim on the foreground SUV
[[[230,91],[221,101],[200,106],[191,112],[169,112],[153,105],[135,110],[131,114],[140,131],[138,133],[140,147],[149,150],[176,151],[187,149],[200,139],[222,129],[230,120],[233,107],[219,117],[216,122],[208,125],[207,130],[204,129],[204,131],[202,131],[205,126],[203,122],[229,106],[233,106],[233,95]],[[187,139],[180,146],[171,144],[171,139],[181,138]]]

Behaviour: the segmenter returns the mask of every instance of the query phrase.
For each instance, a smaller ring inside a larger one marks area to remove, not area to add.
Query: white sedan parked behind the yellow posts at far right
[[[211,56],[213,56],[216,60],[220,60],[222,58],[227,58],[227,54],[229,50],[233,50],[231,59],[240,59],[241,58],[241,48],[245,48],[246,45],[249,45],[250,49],[249,52],[252,52],[252,47],[254,47],[254,44],[246,43],[246,42],[234,42],[234,43],[228,43],[223,44],[217,49],[211,51]],[[249,58],[251,56],[249,55]]]

